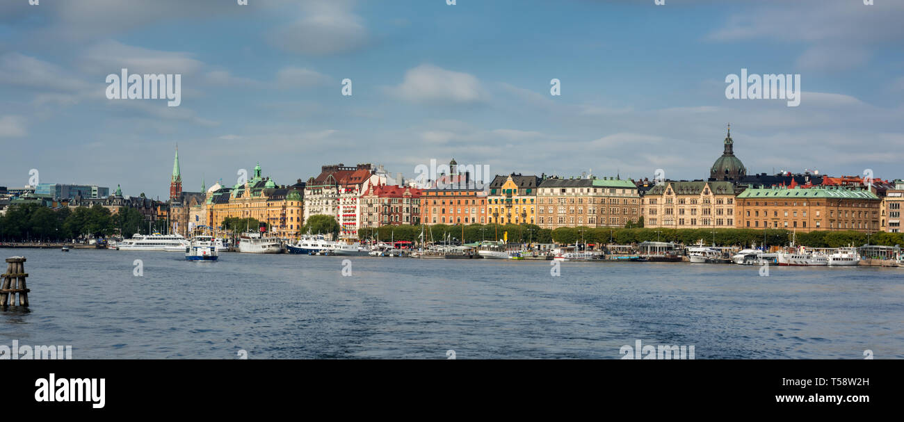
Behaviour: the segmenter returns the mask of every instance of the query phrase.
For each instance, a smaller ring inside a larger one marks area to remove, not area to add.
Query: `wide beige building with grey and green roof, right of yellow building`
[[[549,177],[538,188],[537,225],[543,229],[625,227],[640,219],[638,192],[634,181],[620,177]]]

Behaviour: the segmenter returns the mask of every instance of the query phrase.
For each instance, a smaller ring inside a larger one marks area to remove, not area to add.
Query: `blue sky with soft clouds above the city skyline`
[[[701,179],[731,125],[749,173],[904,178],[904,2],[3,0],[0,185],[166,199],[260,163],[430,160],[491,173]],[[181,75],[181,104],[109,74]],[[726,98],[799,74],[801,102]],[[344,96],[343,80],[352,95]],[[551,80],[560,95],[551,95]]]

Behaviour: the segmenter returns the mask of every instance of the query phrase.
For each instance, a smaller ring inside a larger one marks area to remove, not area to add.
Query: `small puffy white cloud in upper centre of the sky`
[[[422,64],[405,72],[401,84],[391,94],[412,102],[475,103],[485,92],[474,75]]]

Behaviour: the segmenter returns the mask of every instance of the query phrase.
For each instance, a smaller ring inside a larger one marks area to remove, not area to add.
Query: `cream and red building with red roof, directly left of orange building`
[[[368,186],[361,195],[361,227],[420,224],[420,194],[408,186]]]

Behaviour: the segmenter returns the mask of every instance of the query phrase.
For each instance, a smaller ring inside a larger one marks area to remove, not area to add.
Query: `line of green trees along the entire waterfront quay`
[[[256,230],[260,222],[254,219],[231,218],[224,221],[221,230],[241,232],[248,228]],[[0,216],[0,240],[5,242],[23,241],[68,241],[71,239],[101,238],[114,235],[129,237],[132,233],[146,233],[148,230],[142,215],[127,207],[117,213],[96,205],[94,207],[61,208],[52,210],[36,204],[15,205]],[[157,221],[158,230],[165,227],[165,221]],[[358,239],[382,241],[407,240],[419,242],[423,230],[424,241],[443,242],[452,240],[460,243],[462,225],[435,224],[432,226],[383,226],[378,229],[361,229]],[[339,225],[331,216],[312,216],[302,234],[338,233]],[[507,234],[507,235],[506,235]],[[904,233],[862,233],[857,231],[810,231],[794,233],[791,230],[753,229],[645,229],[645,228],[560,228],[541,229],[534,224],[469,224],[464,226],[465,243],[482,240],[507,239],[511,243],[588,243],[594,245],[631,245],[643,241],[665,241],[684,245],[701,242],[706,245],[749,247],[764,243],[767,246],[786,246],[792,239],[797,245],[810,248],[843,248],[847,246],[904,245]]]

